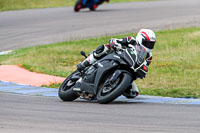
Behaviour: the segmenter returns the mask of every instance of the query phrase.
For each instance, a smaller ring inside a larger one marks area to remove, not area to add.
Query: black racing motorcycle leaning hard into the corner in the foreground
[[[85,52],[81,51],[81,55]],[[61,84],[58,95],[63,101],[78,97],[107,104],[131,88],[136,77],[144,78],[148,69],[147,52],[140,45],[118,48],[83,71],[74,71]]]

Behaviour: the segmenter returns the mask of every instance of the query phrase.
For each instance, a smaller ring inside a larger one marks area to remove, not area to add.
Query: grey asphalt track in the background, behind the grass
[[[0,51],[70,39],[200,26],[199,0],[104,4],[79,13],[73,7],[0,13]]]

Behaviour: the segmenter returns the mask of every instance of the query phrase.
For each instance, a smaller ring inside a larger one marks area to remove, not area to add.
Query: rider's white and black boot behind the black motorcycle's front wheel
[[[139,95],[139,90],[138,90],[138,87],[137,85],[135,84],[135,82],[133,82],[130,86],[130,88],[128,88],[124,93],[123,95],[126,97],[126,98],[135,98],[136,96]]]

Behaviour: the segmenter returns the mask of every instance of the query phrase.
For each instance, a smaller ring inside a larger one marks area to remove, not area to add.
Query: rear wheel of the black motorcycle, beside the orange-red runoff
[[[73,75],[78,75],[79,72],[75,71],[71,75],[69,75],[61,84],[59,90],[58,90],[58,96],[63,101],[73,101],[78,98],[78,95],[73,91],[73,86],[76,84],[76,81],[78,80],[71,80],[71,77]]]

